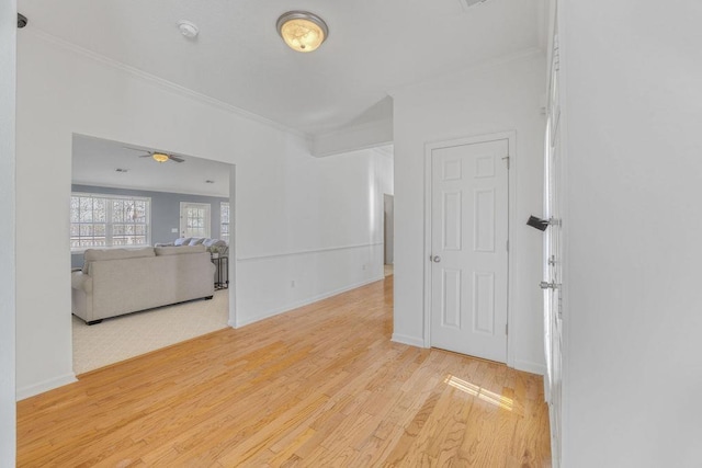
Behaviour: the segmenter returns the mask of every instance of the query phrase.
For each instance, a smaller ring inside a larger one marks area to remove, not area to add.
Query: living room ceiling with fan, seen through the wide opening
[[[230,164],[185,155],[185,161],[156,162],[140,148],[99,138],[73,136],[72,183],[118,189],[141,189],[155,192],[190,193],[229,196]],[[154,148],[169,152],[167,148]],[[149,149],[151,150],[151,149]],[[170,153],[170,152],[169,152]],[[127,172],[117,172],[126,169]],[[214,183],[206,183],[205,181]]]

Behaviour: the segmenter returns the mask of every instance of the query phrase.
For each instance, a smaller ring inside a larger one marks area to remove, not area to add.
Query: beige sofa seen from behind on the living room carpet
[[[72,312],[88,324],[192,299],[212,299],[215,265],[204,246],[88,249],[71,273]]]

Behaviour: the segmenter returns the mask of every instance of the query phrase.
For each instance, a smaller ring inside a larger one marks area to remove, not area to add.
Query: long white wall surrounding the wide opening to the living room
[[[299,136],[27,33],[18,54],[20,398],[73,379],[73,133],[236,164],[237,324],[382,277],[373,157],[313,158]]]

